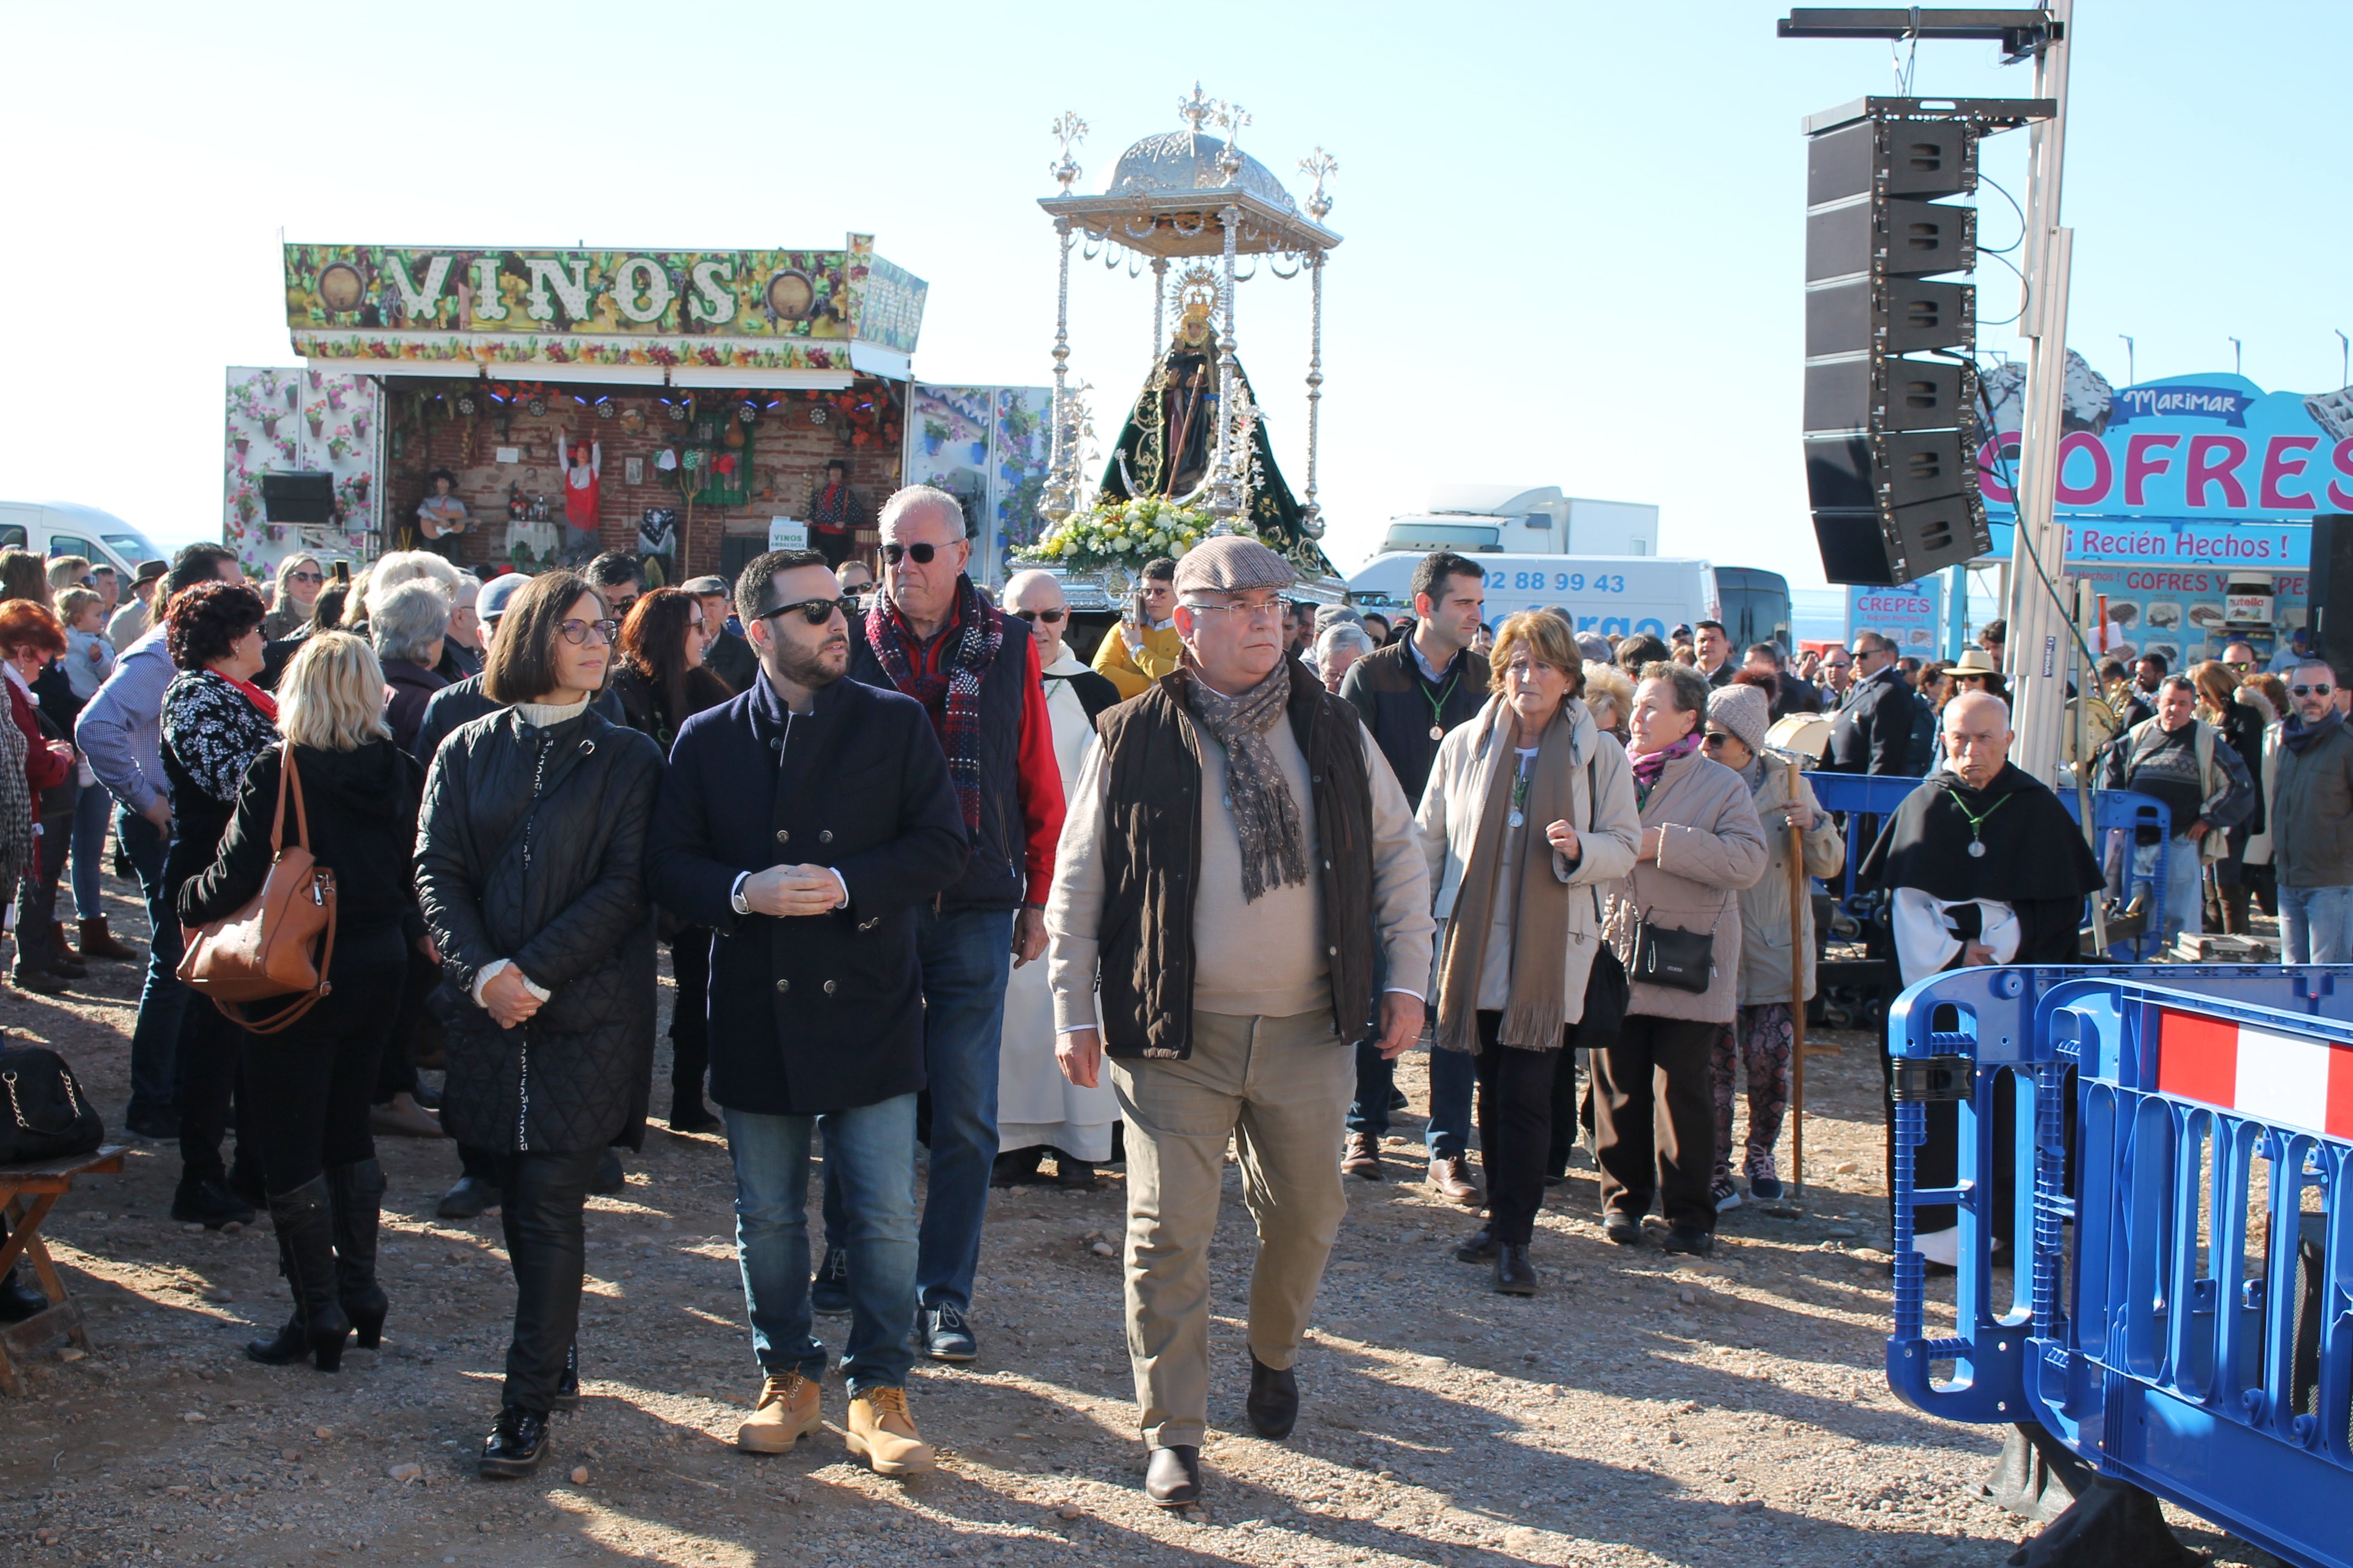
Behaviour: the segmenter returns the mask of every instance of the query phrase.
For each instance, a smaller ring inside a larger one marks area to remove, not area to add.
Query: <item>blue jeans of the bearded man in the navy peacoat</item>
[[[915,1363],[915,1095],[826,1117],[760,1117],[720,1110],[736,1166],[736,1255],[760,1371],[826,1375],[826,1347],[809,1333],[809,1131],[826,1133],[826,1192],[847,1190],[849,1389],[906,1387]],[[986,1185],[986,1180],[984,1180]]]

